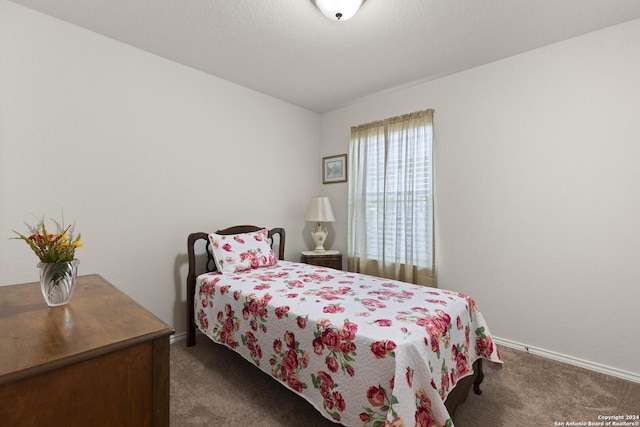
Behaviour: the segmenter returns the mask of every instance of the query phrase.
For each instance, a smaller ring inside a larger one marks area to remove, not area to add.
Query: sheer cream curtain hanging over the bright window
[[[349,271],[435,286],[433,113],[351,128]]]

